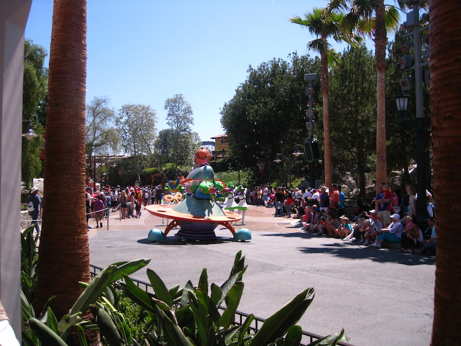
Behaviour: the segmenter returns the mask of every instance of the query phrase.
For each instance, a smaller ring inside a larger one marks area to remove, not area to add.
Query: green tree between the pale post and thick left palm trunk
[[[48,69],[44,66],[47,51],[32,40],[24,43],[23,129],[28,130],[29,120],[38,135],[31,140],[23,138],[22,180],[26,187],[32,186],[34,177],[41,171],[40,147],[44,144],[43,126],[48,97]]]

